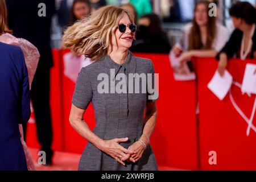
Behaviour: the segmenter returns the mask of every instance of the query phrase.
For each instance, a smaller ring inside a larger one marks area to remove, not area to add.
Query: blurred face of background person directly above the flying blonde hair
[[[89,0],[74,0],[71,11],[71,24],[90,15],[92,7]]]

